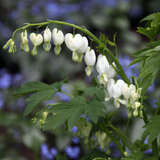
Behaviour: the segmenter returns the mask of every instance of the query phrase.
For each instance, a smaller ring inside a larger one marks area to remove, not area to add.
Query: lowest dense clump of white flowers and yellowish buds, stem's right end
[[[142,104],[139,102],[141,95],[141,88],[136,89],[133,84],[128,85],[123,80],[110,79],[107,86],[108,96],[106,100],[114,98],[114,104],[119,107],[120,104],[127,106],[129,115],[143,116]]]

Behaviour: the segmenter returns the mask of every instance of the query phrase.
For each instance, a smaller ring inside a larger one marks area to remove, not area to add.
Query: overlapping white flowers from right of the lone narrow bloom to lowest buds
[[[114,105],[119,108],[120,104],[125,105],[128,108],[128,115],[131,116],[143,116],[142,104],[139,102],[141,95],[141,88],[136,88],[135,85],[128,85],[123,80],[119,79],[115,81],[113,78],[116,75],[114,70],[115,64],[109,64],[104,55],[99,55],[96,69],[98,72],[98,79],[100,84],[104,85],[106,97],[105,101],[110,99],[114,100]]]

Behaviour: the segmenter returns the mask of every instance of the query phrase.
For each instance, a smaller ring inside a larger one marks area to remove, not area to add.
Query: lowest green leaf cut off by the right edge
[[[157,116],[154,116],[151,118],[151,120],[149,121],[149,123],[147,123],[145,125],[145,132],[144,132],[144,135],[148,135],[148,143],[152,143],[157,136],[159,136],[160,134],[160,127],[159,127],[159,124],[160,124],[160,116],[157,115]]]

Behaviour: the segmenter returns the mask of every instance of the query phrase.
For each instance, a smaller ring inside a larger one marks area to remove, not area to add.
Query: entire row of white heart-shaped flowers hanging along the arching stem
[[[106,56],[99,54],[96,62],[95,51],[89,47],[88,39],[81,34],[67,33],[63,34],[61,30],[54,28],[51,30],[46,27],[42,34],[31,33],[29,39],[33,44],[32,55],[37,55],[37,47],[43,43],[43,48],[46,52],[51,49],[51,41],[54,44],[54,51],[56,55],[61,52],[61,45],[65,42],[67,48],[72,52],[72,60],[81,63],[83,58],[87,65],[85,72],[87,76],[90,76],[94,65],[96,64],[96,71],[98,73],[99,83],[102,84],[106,91],[105,100],[114,99],[116,107],[120,107],[120,104],[127,106],[129,115],[133,113],[134,116],[143,116],[142,105],[139,102],[141,89],[137,89],[135,85],[128,85],[123,80],[114,80],[116,76],[115,63],[109,63]],[[10,39],[4,49],[9,48],[10,53],[14,53],[16,50],[13,39]],[[21,33],[21,49],[25,52],[29,52],[27,31],[24,30]]]

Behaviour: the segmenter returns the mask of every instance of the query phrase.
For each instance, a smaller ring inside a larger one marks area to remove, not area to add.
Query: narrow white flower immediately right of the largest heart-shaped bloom
[[[92,73],[92,68],[96,63],[96,54],[95,51],[93,49],[91,49],[90,47],[88,47],[87,52],[84,56],[84,61],[87,65],[85,71],[87,76],[90,76]]]

